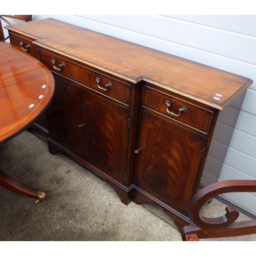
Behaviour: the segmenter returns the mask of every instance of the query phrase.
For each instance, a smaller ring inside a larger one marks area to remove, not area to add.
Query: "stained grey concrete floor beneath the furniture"
[[[51,155],[47,143],[30,132],[0,147],[0,168],[47,194],[36,205],[0,186],[0,241],[181,241],[160,207],[122,204],[108,183],[63,154]],[[203,210],[216,217],[224,208],[214,199]],[[256,241],[256,235],[215,240]]]

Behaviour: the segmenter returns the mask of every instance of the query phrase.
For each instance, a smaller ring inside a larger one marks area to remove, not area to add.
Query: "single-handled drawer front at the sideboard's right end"
[[[208,134],[213,112],[167,93],[145,87],[143,105],[154,112]]]

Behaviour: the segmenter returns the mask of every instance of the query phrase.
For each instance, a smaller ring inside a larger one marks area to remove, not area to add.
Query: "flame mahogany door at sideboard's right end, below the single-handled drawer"
[[[187,215],[206,138],[142,111],[136,186]]]

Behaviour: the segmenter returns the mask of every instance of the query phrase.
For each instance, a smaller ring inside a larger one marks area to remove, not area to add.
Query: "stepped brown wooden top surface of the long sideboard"
[[[132,83],[145,80],[222,111],[252,80],[52,18],[6,27],[34,44]]]

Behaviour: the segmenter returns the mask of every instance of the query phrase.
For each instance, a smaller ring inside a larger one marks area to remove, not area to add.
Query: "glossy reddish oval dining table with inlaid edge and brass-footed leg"
[[[47,109],[53,93],[54,78],[43,63],[0,42],[0,146],[30,127]],[[37,199],[36,203],[46,198],[44,192],[19,183],[1,169],[0,185]]]

